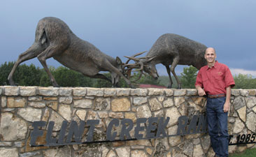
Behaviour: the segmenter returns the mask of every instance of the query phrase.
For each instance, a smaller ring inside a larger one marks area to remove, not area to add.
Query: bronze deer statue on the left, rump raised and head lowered
[[[119,57],[112,57],[101,52],[97,47],[78,38],[69,29],[68,25],[56,17],[44,17],[36,27],[36,37],[33,45],[18,57],[11,70],[8,81],[13,82],[13,73],[23,61],[37,57],[50,77],[53,87],[59,87],[55,78],[46,65],[46,59],[53,57],[64,66],[76,70],[87,77],[101,78],[112,82],[115,87],[120,77],[131,87],[131,82],[122,75],[122,61]],[[112,80],[109,80],[99,71],[109,71]]]

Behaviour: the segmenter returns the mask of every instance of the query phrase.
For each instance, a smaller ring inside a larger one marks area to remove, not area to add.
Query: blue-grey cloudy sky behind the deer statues
[[[215,47],[236,75],[256,77],[255,0],[1,0],[0,64],[15,61],[34,42],[38,20],[58,17],[73,33],[111,57],[150,50],[164,33]],[[41,66],[37,59],[25,61]],[[54,59],[50,66],[60,66]],[[182,72],[178,66],[176,72]],[[158,65],[160,75],[166,75]]]

